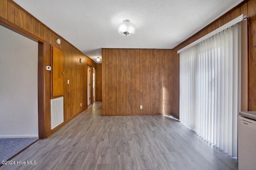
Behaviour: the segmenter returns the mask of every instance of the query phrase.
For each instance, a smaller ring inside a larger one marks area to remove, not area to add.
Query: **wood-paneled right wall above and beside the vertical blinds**
[[[248,17],[248,111],[256,111],[256,0],[245,0],[217,20],[213,21],[198,31],[198,33],[192,35],[186,41],[175,47],[173,55],[174,58],[179,57],[177,54],[178,50],[224,25],[225,23],[228,23],[241,14]],[[178,68],[179,64],[176,63],[175,66]],[[174,70],[179,70],[179,68]],[[178,79],[174,80],[174,82],[178,83]],[[178,96],[177,100],[174,102],[177,101],[179,101]],[[176,104],[178,104],[178,102]]]

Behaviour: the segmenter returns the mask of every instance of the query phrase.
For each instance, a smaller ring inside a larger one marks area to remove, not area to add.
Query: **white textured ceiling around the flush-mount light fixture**
[[[14,1],[96,61],[101,48],[172,49],[243,0]],[[128,37],[117,32],[126,19]]]

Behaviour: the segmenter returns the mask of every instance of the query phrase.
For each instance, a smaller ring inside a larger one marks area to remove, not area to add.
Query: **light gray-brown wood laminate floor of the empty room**
[[[102,117],[89,106],[4,170],[236,170],[235,160],[164,115]],[[27,161],[36,161],[28,165]],[[17,165],[25,161],[25,165]]]

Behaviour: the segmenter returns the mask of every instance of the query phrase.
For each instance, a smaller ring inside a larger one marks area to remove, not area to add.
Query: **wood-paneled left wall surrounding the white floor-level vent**
[[[87,108],[87,64],[96,68],[96,63],[12,0],[0,0],[0,24],[40,43],[38,101],[41,103],[38,110],[39,113],[43,112],[43,115],[39,116],[39,126],[43,128],[39,138],[43,139],[59,128],[51,130],[50,127],[50,72],[45,70],[45,66],[50,65],[50,46],[57,47],[64,54],[63,124]],[[56,43],[57,38],[61,40],[60,45]],[[80,58],[83,63],[79,62]],[[70,84],[67,84],[68,80]]]

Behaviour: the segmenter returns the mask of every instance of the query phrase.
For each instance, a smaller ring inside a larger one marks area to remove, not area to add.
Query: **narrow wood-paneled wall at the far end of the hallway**
[[[102,101],[102,64],[96,64],[96,101]]]

